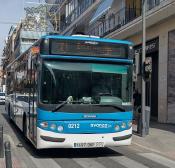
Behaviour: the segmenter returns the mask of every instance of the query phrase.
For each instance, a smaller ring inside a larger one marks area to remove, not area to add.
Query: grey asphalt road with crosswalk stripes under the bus
[[[13,168],[175,168],[175,161],[134,144],[104,149],[37,151],[9,122],[3,105],[0,124],[4,126],[4,140],[11,142]],[[0,159],[0,168],[4,167],[4,160]]]

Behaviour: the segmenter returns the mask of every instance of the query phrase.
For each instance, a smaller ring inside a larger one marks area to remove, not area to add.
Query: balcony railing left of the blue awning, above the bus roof
[[[65,30],[71,23],[73,23],[82,13],[84,13],[95,0],[83,0],[66,18],[61,21],[60,30]]]

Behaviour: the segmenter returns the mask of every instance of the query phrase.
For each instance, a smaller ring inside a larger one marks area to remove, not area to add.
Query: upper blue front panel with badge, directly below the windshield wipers
[[[112,113],[69,113],[69,112],[52,112],[37,108],[38,120],[55,121],[55,120],[132,120],[132,111],[112,112]]]

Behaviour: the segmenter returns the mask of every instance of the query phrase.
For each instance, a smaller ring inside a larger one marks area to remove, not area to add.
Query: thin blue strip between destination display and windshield
[[[82,57],[82,56],[63,56],[63,55],[41,55],[41,58],[75,59],[75,60],[90,60],[90,61],[111,61],[111,62],[129,63],[129,64],[133,63],[133,60],[119,59],[119,58],[97,58],[97,57]]]

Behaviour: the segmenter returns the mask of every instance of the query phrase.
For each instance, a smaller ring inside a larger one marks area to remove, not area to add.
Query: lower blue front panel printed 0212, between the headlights
[[[41,126],[42,120],[38,120],[37,127],[46,131],[52,131],[62,134],[99,134],[99,133],[115,133],[130,129],[128,123],[131,120],[125,121],[108,121],[108,120],[75,120],[75,121],[47,121],[48,127],[43,128]],[[122,127],[122,123],[125,122],[126,127]],[[55,125],[55,129],[51,129],[52,125]],[[118,125],[120,129],[115,130],[115,126]],[[62,126],[64,129],[59,131],[57,128]]]

